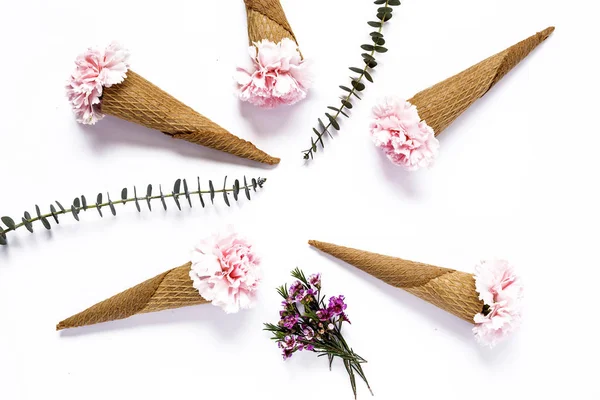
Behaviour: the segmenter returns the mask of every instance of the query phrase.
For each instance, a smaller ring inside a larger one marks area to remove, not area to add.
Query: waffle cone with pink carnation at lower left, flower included
[[[205,303],[235,313],[254,306],[260,282],[260,259],[252,244],[236,233],[218,234],[194,248],[191,262],[67,318],[56,329]]]

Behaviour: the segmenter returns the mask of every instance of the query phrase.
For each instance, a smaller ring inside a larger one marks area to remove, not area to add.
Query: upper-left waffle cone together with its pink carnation
[[[110,114],[238,157],[279,163],[131,71],[129,52],[117,43],[88,49],[75,65],[66,89],[80,123],[93,125]]]

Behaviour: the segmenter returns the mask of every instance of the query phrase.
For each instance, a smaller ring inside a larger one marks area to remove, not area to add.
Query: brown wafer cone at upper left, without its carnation
[[[279,158],[229,133],[131,70],[123,83],[104,88],[102,112],[238,157],[279,163]]]

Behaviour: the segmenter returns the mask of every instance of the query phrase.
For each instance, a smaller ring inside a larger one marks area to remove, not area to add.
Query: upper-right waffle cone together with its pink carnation
[[[456,74],[408,101],[386,98],[373,108],[371,136],[395,164],[408,170],[432,165],[439,149],[436,139],[477,99],[550,36],[549,27]]]

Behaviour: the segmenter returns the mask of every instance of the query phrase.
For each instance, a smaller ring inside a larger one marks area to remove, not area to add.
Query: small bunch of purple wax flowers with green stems
[[[312,351],[318,357],[327,356],[331,369],[334,358],[339,357],[350,376],[354,397],[356,375],[371,390],[361,366],[367,361],[356,354],[342,336],[343,323],[350,323],[344,296],[330,297],[325,303],[325,295],[321,294],[321,274],[307,279],[304,272],[296,268],[292,276],[296,281],[289,288],[286,284],[277,289],[284,298],[279,322],[277,325],[265,324],[265,330],[273,333],[272,339],[282,350],[283,359],[287,360],[297,351]]]

